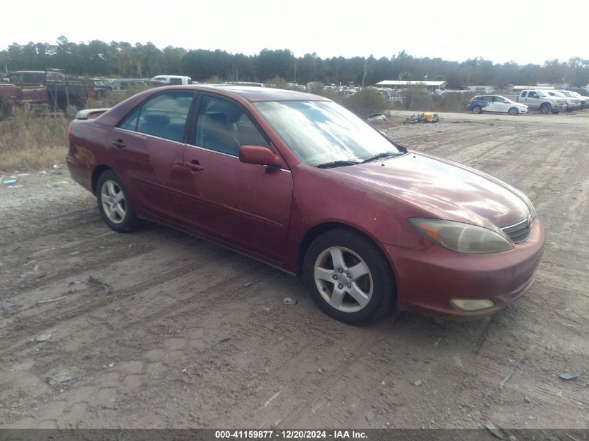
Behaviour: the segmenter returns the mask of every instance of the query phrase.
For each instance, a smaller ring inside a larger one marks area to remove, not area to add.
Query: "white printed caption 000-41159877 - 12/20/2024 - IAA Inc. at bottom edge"
[[[215,440],[367,440],[364,431],[304,431],[304,430],[238,430],[238,431],[215,431]]]

